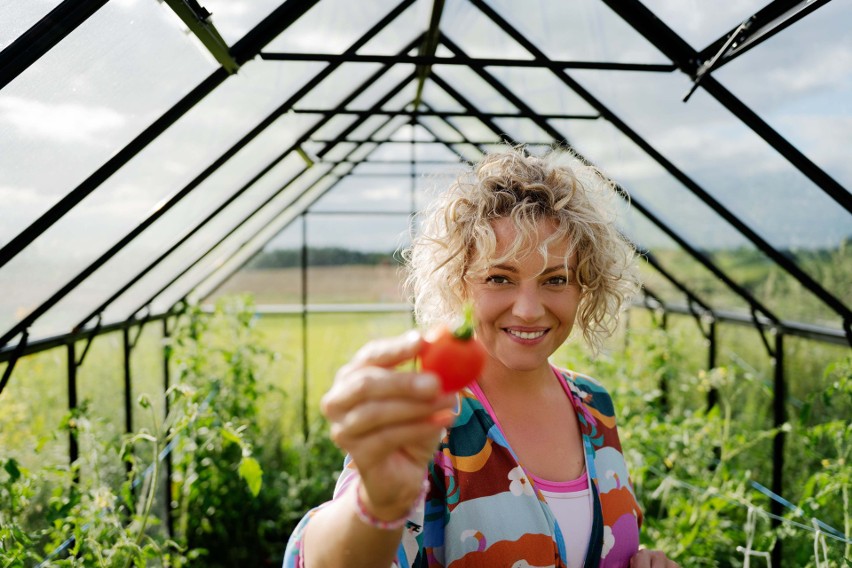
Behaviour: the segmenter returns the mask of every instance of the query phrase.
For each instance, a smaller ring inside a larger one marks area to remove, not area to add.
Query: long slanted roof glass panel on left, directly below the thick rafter
[[[292,94],[299,79],[306,80],[313,68],[309,64],[288,70],[252,62],[193,107],[0,270],[2,289],[15,282],[30,283],[15,286],[20,294],[10,309],[0,313],[0,328],[40,305],[157,210],[169,194],[185,187]],[[280,73],[287,81],[277,80]]]

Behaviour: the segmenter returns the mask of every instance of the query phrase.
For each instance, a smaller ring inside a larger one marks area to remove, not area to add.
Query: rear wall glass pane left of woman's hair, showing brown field
[[[396,259],[408,215],[309,214],[307,224],[309,303],[404,301]]]

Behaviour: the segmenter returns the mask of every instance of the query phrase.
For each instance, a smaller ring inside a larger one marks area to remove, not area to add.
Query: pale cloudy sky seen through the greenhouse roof
[[[225,40],[233,44],[274,9],[280,0],[202,0]],[[0,49],[8,46],[59,0],[0,0]],[[701,49],[759,10],[766,2],[729,0],[646,0],[646,5],[696,49]],[[353,3],[323,0],[274,40],[269,51],[328,52],[345,49],[386,13],[395,1]],[[662,63],[662,56],[597,0],[521,4],[493,0],[489,4],[533,38],[550,57],[581,61]],[[421,0],[400,16],[392,29],[363,48],[366,53],[394,53],[428,25],[431,2]],[[779,133],[846,188],[852,187],[852,4],[830,2],[803,21],[776,35],[721,68],[714,76]],[[529,58],[514,42],[466,0],[448,0],[442,32],[466,53],[481,57]],[[439,53],[448,54],[442,48]],[[110,159],[217,67],[165,3],[155,0],[112,0],[73,34],[0,91],[0,243],[7,242],[70,190]],[[58,283],[67,280],[139,224],[176,191],[193,180],[322,69],[321,63],[250,61],[111,176],[80,206],[66,215],[24,253],[0,269],[0,289],[34,278],[25,298],[4,309],[2,324],[38,305]],[[298,103],[301,108],[336,104],[376,64],[347,65]],[[354,103],[366,108],[382,91],[400,81],[411,67],[400,67],[376,81],[369,94]],[[555,77],[536,70],[488,70],[514,93],[543,113],[594,112],[588,103]],[[487,111],[513,110],[493,88],[472,72],[436,66],[434,72]],[[831,247],[852,235],[849,214],[792,168],[753,132],[699,89],[684,103],[689,78],[679,72],[650,74],[569,70],[568,75],[616,113],[631,129],[663,153],[675,167],[704,187],[759,235],[778,248]],[[346,87],[342,87],[346,86]],[[398,108],[413,97],[409,87],[389,104]],[[437,87],[427,86],[425,101],[433,108],[462,108]],[[156,256],[185,235],[221,203],[235,187],[251,181],[296,135],[319,119],[287,113],[272,128],[240,151],[227,166],[163,216],[123,258],[110,263],[110,274],[124,275]],[[354,117],[340,117],[316,138],[333,137]],[[359,129],[366,136],[382,117]],[[347,122],[348,121],[348,122]],[[499,122],[499,121],[498,121]],[[433,128],[445,125],[430,122]],[[499,122],[507,132],[542,133],[531,124]],[[606,121],[553,121],[574,147],[630,192],[637,202],[657,212],[701,248],[741,246],[745,239],[674,181],[653,160]],[[471,119],[455,119],[456,128],[471,137],[490,131]],[[385,132],[401,141],[412,135],[400,121]],[[517,136],[518,134],[516,134]],[[308,153],[322,145],[308,144]],[[443,160],[450,152],[423,146],[421,158]],[[411,156],[409,144],[375,150],[376,158]],[[341,154],[342,155],[342,154]],[[313,156],[317,158],[315,155]],[[260,204],[280,189],[303,164],[296,159],[273,170],[252,187],[252,203]],[[435,166],[439,168],[440,166]],[[397,168],[398,169],[398,168]],[[425,168],[424,168],[425,170]],[[359,170],[360,171],[360,170]],[[372,170],[377,173],[377,170]],[[275,173],[278,172],[278,173]],[[386,173],[386,172],[385,172]],[[405,212],[411,205],[411,180],[382,175],[344,178],[314,205],[325,210],[309,222],[314,246],[350,246],[387,250],[405,240]],[[278,177],[274,177],[278,176]],[[446,183],[428,170],[419,188]],[[272,178],[272,179],[270,179]],[[425,194],[424,194],[425,195]],[[333,222],[328,211],[376,208],[383,215]],[[229,212],[231,209],[228,210]],[[241,210],[246,215],[250,208]],[[225,215],[222,226],[234,224],[237,213]],[[325,219],[325,220],[321,220]],[[312,217],[313,219],[313,217]],[[627,232],[648,247],[666,240],[647,230],[633,216],[623,219]],[[330,223],[330,224],[329,224]],[[322,227],[330,229],[323,230]],[[289,233],[288,233],[289,234]],[[287,234],[269,246],[292,240]],[[130,252],[132,251],[132,253]],[[33,271],[38,275],[31,277]],[[104,279],[115,286],[116,278]],[[93,298],[102,290],[92,290]]]

